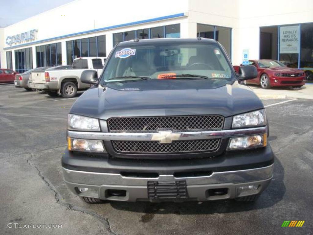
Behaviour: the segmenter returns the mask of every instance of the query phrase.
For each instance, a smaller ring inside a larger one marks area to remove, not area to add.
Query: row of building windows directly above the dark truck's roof
[[[116,33],[113,34],[113,44],[115,46],[120,42],[132,40],[135,37],[139,39],[164,38],[164,33],[166,35],[166,38],[179,38],[180,24],[172,24],[150,29],[137,29],[136,31]]]

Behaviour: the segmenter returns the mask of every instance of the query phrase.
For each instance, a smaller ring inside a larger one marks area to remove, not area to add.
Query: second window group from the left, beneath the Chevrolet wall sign
[[[15,71],[23,73],[33,68],[33,53],[32,48],[24,48],[15,50]]]

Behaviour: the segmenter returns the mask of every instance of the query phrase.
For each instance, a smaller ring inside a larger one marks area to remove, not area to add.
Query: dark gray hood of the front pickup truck
[[[95,85],[74,102],[70,113],[104,120],[206,114],[228,117],[264,108],[254,92],[237,81],[214,89],[207,84],[207,80],[159,80]]]

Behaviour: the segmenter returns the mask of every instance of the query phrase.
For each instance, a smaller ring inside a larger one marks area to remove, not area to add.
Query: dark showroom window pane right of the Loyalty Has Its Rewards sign
[[[300,48],[300,68],[313,68],[313,23],[301,24]]]

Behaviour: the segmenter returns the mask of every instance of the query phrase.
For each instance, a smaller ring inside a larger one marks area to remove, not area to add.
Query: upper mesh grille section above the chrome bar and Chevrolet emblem
[[[110,132],[157,132],[160,129],[198,131],[222,129],[223,124],[224,117],[220,115],[108,119]]]

